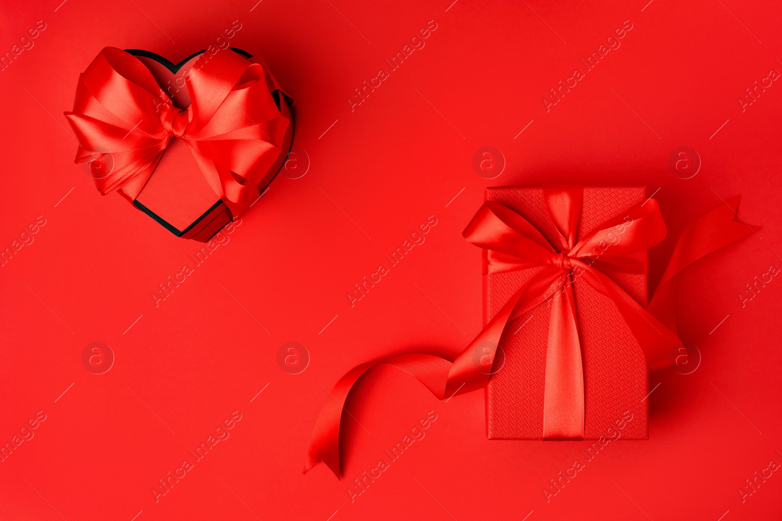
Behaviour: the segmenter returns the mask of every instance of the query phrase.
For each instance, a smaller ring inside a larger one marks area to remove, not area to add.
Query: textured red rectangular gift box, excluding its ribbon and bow
[[[584,187],[578,241],[598,225],[644,202],[645,187]],[[508,206],[551,241],[542,187],[489,187],[486,200]],[[486,250],[483,252],[486,263]],[[484,275],[484,326],[540,268]],[[485,271],[485,270],[484,270]],[[647,276],[604,271],[640,304]],[[645,440],[647,363],[615,304],[576,277],[576,319],[584,371],[584,437]],[[486,387],[486,435],[493,440],[543,439],[543,392],[551,305],[547,302],[508,324]],[[504,362],[502,361],[504,355]],[[501,363],[501,366],[500,366]],[[609,429],[612,429],[609,431]]]

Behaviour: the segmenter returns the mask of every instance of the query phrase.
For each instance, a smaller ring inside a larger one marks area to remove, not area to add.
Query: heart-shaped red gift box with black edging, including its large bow
[[[197,52],[174,65],[104,48],[65,112],[101,194],[118,191],[178,237],[209,241],[252,205],[282,167],[293,125],[260,59]]]

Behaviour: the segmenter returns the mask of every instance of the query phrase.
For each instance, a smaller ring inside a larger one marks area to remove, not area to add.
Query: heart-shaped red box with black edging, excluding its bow
[[[174,105],[180,109],[185,109],[190,105],[188,89],[185,87],[176,88],[176,85],[184,84],[183,79],[198,62],[203,51],[195,53],[177,65],[152,52],[137,49],[127,49],[127,52],[135,55],[147,66],[160,88],[173,99]],[[263,62],[256,61],[252,55],[241,49],[229,48],[220,52],[236,52],[249,59],[250,62],[258,62],[263,65]],[[272,91],[272,97],[282,116],[290,123],[285,131],[282,152],[258,184],[259,196],[282,168],[293,139],[292,115],[288,101],[279,90]],[[163,153],[163,157],[152,176],[149,177],[144,188],[135,198],[133,205],[177,237],[207,242],[226,224],[230,223],[231,219],[245,212],[254,200],[255,198],[252,198],[249,201],[232,205],[234,210],[232,213],[225,202],[218,198],[206,183],[206,179],[195,163],[188,146],[181,140],[174,138],[170,141],[166,152]]]

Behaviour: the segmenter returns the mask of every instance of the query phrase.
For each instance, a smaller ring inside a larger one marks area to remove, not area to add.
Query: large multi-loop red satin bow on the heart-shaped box
[[[257,194],[256,183],[282,152],[289,121],[270,93],[264,67],[236,52],[218,52],[185,78],[191,104],[179,109],[134,55],[104,48],[79,77],[73,112],[76,162],[109,153],[113,170],[96,179],[101,194],[135,199],[178,137],[189,146],[213,191],[230,202]]]

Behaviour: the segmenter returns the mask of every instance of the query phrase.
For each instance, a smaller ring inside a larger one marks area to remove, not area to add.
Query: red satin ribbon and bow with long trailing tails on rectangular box
[[[465,228],[471,244],[487,250],[486,273],[539,271],[491,319],[454,362],[434,355],[397,355],[365,363],[343,376],[315,423],[304,473],[325,462],[337,477],[339,425],[353,384],[372,367],[396,367],[414,376],[440,400],[485,387],[500,337],[508,324],[537,305],[551,305],[543,400],[543,438],[583,437],[584,384],[573,283],[581,278],[610,298],[646,355],[649,370],[669,366],[668,351],[680,344],[673,311],[674,277],[692,262],[751,234],[759,227],[734,221],[739,198],[706,213],[683,231],[669,266],[644,308],[608,273],[647,273],[647,248],[665,237],[658,203],[649,198],[576,241],[583,187],[543,187],[557,234],[551,242],[524,217],[497,202],[484,202]],[[660,310],[658,312],[657,310]],[[491,346],[487,348],[487,346]],[[484,364],[486,357],[490,357]]]

